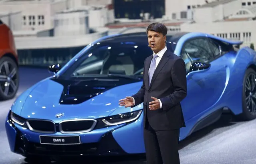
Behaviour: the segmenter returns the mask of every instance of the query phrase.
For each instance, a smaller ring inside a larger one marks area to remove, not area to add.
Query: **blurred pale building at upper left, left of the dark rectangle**
[[[14,34],[20,64],[47,66],[108,35],[114,10],[109,0],[2,0],[0,19]]]

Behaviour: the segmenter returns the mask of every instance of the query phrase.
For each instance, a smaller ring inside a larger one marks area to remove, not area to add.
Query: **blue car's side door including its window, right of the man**
[[[187,70],[187,96],[181,102],[185,120],[202,113],[220,98],[225,86],[225,67],[214,61],[208,38],[187,40],[181,49]],[[193,64],[208,64],[209,68],[191,71]]]

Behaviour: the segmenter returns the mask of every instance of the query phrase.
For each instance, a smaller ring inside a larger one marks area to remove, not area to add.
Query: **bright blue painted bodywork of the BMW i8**
[[[56,73],[55,76],[60,76],[65,70],[69,69],[93,44],[115,36],[101,38],[85,47]],[[176,43],[174,53],[180,56],[184,42],[199,36],[221,40],[232,45],[242,44],[240,41],[226,40],[209,34],[188,33],[184,34],[179,39],[179,42]],[[188,61],[185,62],[187,63]],[[198,70],[187,74],[187,96],[181,102],[186,127],[181,128],[179,140],[183,140],[189,136],[202,120],[218,112],[221,108],[229,108],[235,115],[242,113],[244,74],[248,67],[255,66],[255,63],[256,52],[248,47],[244,47],[238,50],[238,52],[227,52],[210,62],[211,66],[206,70]],[[141,88],[141,85],[142,81],[115,86],[82,103],[68,105],[60,104],[59,102],[60,95],[63,91],[62,84],[47,78],[22,93],[12,105],[11,110],[25,119],[52,120],[55,123],[69,119],[101,119],[117,116],[143,109],[143,104],[139,104],[134,108],[125,108],[118,104],[119,100],[125,96],[135,94]],[[58,113],[64,113],[64,116],[62,118],[56,118],[56,114]],[[6,132],[12,152],[16,152],[17,129],[20,133],[26,135],[26,139],[29,142],[39,143],[39,135],[44,135],[43,133],[32,132],[17,123],[10,124],[10,119],[7,117]],[[115,142],[117,142],[124,152],[129,154],[145,152],[143,141],[143,112],[135,121],[128,124],[123,123],[108,126],[79,134],[62,134],[61,132],[56,132],[48,135],[79,135],[81,143],[93,143],[100,142],[102,137],[109,133],[113,135]]]

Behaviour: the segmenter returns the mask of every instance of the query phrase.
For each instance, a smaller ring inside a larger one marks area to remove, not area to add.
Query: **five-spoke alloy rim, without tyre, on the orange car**
[[[18,89],[16,67],[10,61],[4,61],[0,65],[0,90],[4,96],[12,96]]]

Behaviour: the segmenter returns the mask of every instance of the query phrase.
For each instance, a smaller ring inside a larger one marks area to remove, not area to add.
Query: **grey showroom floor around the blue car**
[[[45,69],[20,68],[18,95],[36,82],[50,76]],[[25,164],[25,158],[10,152],[4,127],[6,114],[13,100],[0,102],[0,164]],[[255,164],[256,120],[236,122],[223,116],[215,124],[200,130],[180,143],[181,164]],[[129,159],[129,160],[128,160]],[[58,164],[144,164],[141,156],[114,159],[71,159]]]

